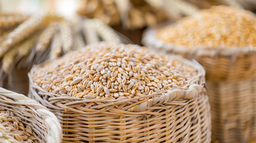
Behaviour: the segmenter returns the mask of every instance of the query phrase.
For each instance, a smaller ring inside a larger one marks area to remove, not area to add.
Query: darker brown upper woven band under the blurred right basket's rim
[[[239,82],[256,77],[256,52],[232,57],[196,57],[206,70],[206,79],[212,82],[222,80]]]

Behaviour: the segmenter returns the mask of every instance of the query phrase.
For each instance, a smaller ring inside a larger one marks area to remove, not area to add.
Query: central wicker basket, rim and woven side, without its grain
[[[176,60],[198,69],[198,76],[187,89],[176,88],[164,95],[129,100],[61,97],[33,83],[31,77],[38,67],[34,66],[29,73],[29,97],[58,117],[63,142],[210,142],[211,113],[205,71],[196,62],[181,57]]]

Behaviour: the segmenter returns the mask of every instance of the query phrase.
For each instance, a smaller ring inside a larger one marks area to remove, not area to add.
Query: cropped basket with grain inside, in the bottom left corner
[[[0,142],[60,143],[61,125],[47,108],[24,95],[0,88]]]

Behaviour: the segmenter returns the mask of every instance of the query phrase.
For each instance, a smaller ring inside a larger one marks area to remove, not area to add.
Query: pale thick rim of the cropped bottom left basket
[[[32,100],[31,98],[28,98],[22,94],[17,94],[13,91],[8,91],[7,89],[0,88],[0,96],[10,98],[14,101],[6,101],[6,104],[13,104],[13,105],[24,105],[28,108],[34,109],[33,111],[36,111],[39,116],[42,117],[44,120],[45,125],[48,129],[48,136],[47,141],[48,142],[61,142],[62,140],[62,129],[60,122],[58,122],[57,117],[51,113],[46,107],[39,104],[35,100]]]

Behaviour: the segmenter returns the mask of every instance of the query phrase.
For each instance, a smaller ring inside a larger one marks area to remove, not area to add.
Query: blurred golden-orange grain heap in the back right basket
[[[256,46],[256,18],[249,11],[217,6],[157,30],[156,38],[186,47]]]

